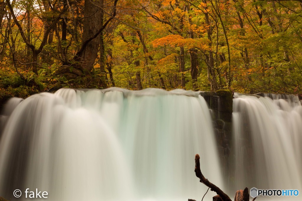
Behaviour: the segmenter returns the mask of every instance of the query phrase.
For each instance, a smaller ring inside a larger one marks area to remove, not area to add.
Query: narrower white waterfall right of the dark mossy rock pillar
[[[265,96],[235,93],[234,188],[302,190],[301,103],[294,95]]]

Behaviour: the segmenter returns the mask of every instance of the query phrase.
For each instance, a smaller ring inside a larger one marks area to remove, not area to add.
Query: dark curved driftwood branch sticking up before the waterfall
[[[223,201],[232,201],[228,195],[226,195],[219,187],[216,185],[212,184],[209,180],[207,180],[204,175],[201,173],[200,170],[200,157],[198,154],[195,155],[195,174],[196,177],[200,179],[200,182],[206,185],[211,189],[211,191],[214,191],[221,197]]]

